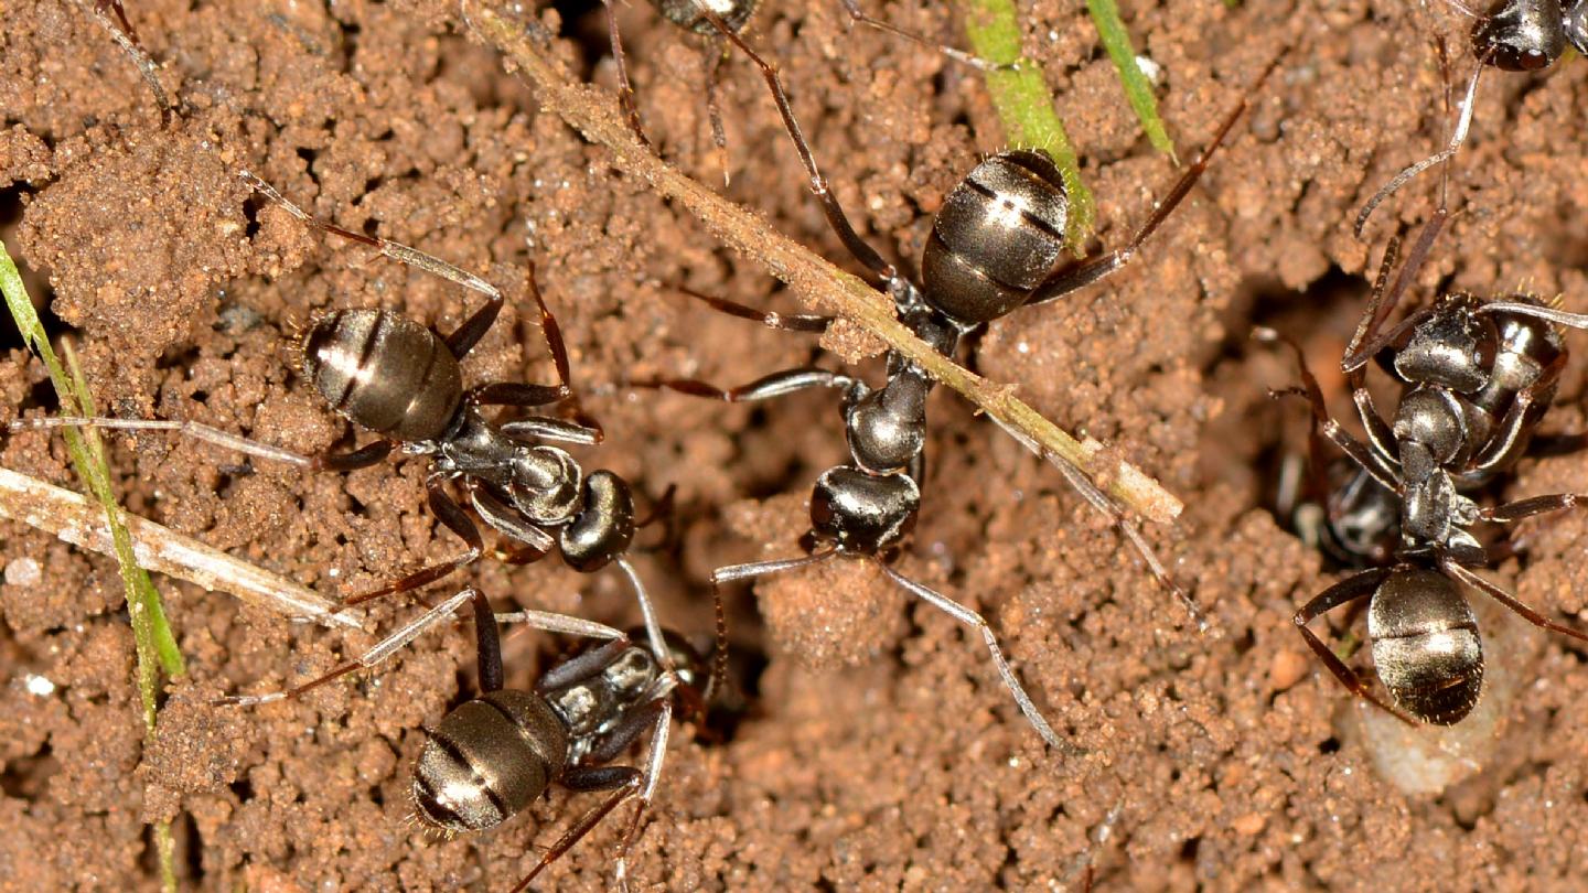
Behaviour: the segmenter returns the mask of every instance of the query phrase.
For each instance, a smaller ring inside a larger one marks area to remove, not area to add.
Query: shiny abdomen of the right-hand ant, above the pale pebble
[[[1374,666],[1394,702],[1424,723],[1459,723],[1483,690],[1472,605],[1437,570],[1397,567],[1367,607]]]

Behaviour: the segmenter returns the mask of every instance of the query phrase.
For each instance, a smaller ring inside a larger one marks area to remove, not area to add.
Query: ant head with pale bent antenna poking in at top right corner
[[[1369,199],[1356,215],[1355,232],[1361,238],[1367,219],[1385,199],[1396,194],[1413,176],[1451,159],[1467,140],[1472,129],[1472,105],[1477,100],[1478,78],[1485,68],[1501,72],[1540,72],[1555,65],[1566,54],[1567,44],[1588,54],[1588,0],[1496,0],[1486,13],[1467,10],[1456,0],[1451,6],[1472,16],[1470,44],[1475,65],[1467,79],[1461,114],[1443,149],[1394,175]],[[1445,105],[1450,105],[1450,59],[1443,37],[1434,38],[1440,70],[1445,75]]]

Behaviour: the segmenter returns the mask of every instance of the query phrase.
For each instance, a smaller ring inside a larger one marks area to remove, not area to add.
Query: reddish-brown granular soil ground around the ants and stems
[[[980,75],[851,29],[837,2],[764,6],[751,40],[780,62],[838,197],[885,256],[913,267],[948,189],[1002,148]],[[945,3],[862,6],[964,40]],[[1181,159],[1277,54],[1280,65],[1126,272],[997,321],[973,362],[1185,499],[1178,524],[1147,535],[1216,634],[1188,623],[1053,469],[940,391],[924,510],[897,567],[988,615],[1037,702],[1088,755],[1046,752],[980,639],[862,564],[762,585],[759,605],[732,588],[748,709],[723,742],[673,736],[630,853],[638,888],[1058,890],[1089,874],[1099,890],[1571,890],[1588,874],[1582,647],[1486,610],[1482,731],[1382,734],[1293,629],[1296,607],[1337,575],[1266,504],[1275,458],[1304,445],[1305,410],[1269,399],[1296,372],[1283,351],[1251,345],[1250,327],[1289,332],[1315,369],[1337,369],[1370,267],[1399,224],[1426,219],[1437,176],[1386,203],[1366,240],[1350,222],[1378,184],[1443,141],[1429,35],[1464,48],[1466,21],[1443,3],[1399,0],[1123,6],[1139,51],[1162,68]],[[1019,8],[1026,52],[1083,153],[1102,240],[1118,243],[1177,170],[1140,137],[1085,5]],[[845,456],[832,396],[723,407],[627,383],[732,385],[835,361],[811,338],[681,296],[675,286],[800,310],[542,110],[451,3],[149,0],[129,16],[186,119],[162,126],[133,67],[76,3],[6,5],[0,35],[0,237],[48,300],[54,332],[75,338],[105,410],[303,451],[345,446],[346,424],[297,375],[295,327],[319,310],[391,307],[451,331],[478,305],[262,207],[230,173],[246,165],[343,227],[421,246],[513,296],[465,362],[470,383],[551,380],[522,302],[534,261],[584,408],[607,429],[581,461],[645,497],[678,486],[676,548],[637,553],[669,626],[708,642],[713,567],[799,555],[810,485]],[[615,83],[600,5],[542,17],[583,76]],[[646,3],[619,3],[619,19],[654,143],[719,184],[708,51]],[[1458,60],[1458,76],[1467,65]],[[719,102],[726,192],[845,261],[743,59],[724,62]],[[1521,288],[1588,311],[1585,243],[1569,226],[1588,207],[1585,106],[1580,62],[1485,79],[1451,180],[1461,213],[1416,300],[1439,284]],[[1583,337],[1569,343],[1588,356]],[[3,345],[0,419],[49,412],[38,364],[19,340]],[[881,375],[877,361],[854,369]],[[1583,369],[1567,369],[1547,431],[1582,427]],[[1343,418],[1339,377],[1324,383]],[[421,461],[305,477],[267,462],[249,472],[162,435],[111,440],[132,512],[330,596],[459,548],[424,507]],[[44,434],[5,439],[0,462],[70,481],[59,439]],[[1585,478],[1582,454],[1528,461],[1510,491],[1580,491]],[[1551,617],[1578,615],[1583,526],[1575,513],[1526,524],[1526,556],[1496,578]],[[556,790],[494,833],[427,837],[403,821],[408,772],[421,726],[473,690],[467,624],[302,701],[221,709],[210,699],[305,680],[375,632],[291,624],[167,580],[189,674],[146,742],[114,562],[14,523],[0,539],[3,890],[154,888],[146,821],[172,818],[184,887],[500,891],[592,802]],[[615,572],[481,561],[464,582],[503,607],[637,621]],[[864,594],[840,597],[851,586]],[[387,604],[372,618],[389,629],[413,610]],[[561,647],[508,634],[510,683],[529,686]],[[1455,740],[1445,736],[1466,736],[1447,748],[1464,758],[1382,769],[1420,747],[1440,752]],[[538,888],[607,888],[622,825],[599,828]]]

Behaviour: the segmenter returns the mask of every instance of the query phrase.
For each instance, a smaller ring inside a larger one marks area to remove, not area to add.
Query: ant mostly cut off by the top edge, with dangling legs
[[[640,110],[634,99],[634,86],[629,81],[629,65],[622,51],[622,38],[618,33],[618,17],[613,0],[602,0],[607,6],[607,29],[611,38],[611,60],[618,75],[618,100],[622,105],[624,116],[629,119],[630,129],[638,135],[640,141],[649,145],[651,140],[645,133],[645,127],[640,124]],[[881,19],[877,19],[861,10],[858,0],[840,0],[843,11],[850,16],[851,25],[865,25],[883,33],[889,33],[904,38],[918,46],[942,52],[943,56],[962,62],[966,65],[988,70],[1012,68],[1012,65],[996,65],[966,52],[964,49],[956,49],[942,43],[934,43],[915,32],[900,29]],[[727,56],[727,46],[721,38],[723,29],[732,35],[742,35],[750,25],[750,21],[761,8],[761,0],[651,0],[651,6],[673,25],[702,38],[705,41],[705,52],[708,56],[705,68],[705,108],[707,118],[711,124],[711,141],[716,145],[718,157],[723,165],[723,178],[729,180],[727,167],[727,133],[723,130],[723,110],[716,102],[716,83],[718,83],[718,67]],[[716,17],[716,22],[713,22]]]

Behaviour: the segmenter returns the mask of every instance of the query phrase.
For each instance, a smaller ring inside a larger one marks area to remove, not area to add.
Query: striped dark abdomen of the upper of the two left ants
[[[389,310],[338,310],[303,335],[303,373],[333,410],[402,442],[446,432],[464,397],[457,358]]]

